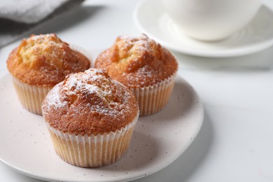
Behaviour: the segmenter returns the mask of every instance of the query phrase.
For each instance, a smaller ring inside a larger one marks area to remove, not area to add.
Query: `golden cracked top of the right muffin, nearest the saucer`
[[[96,59],[96,68],[127,87],[147,87],[172,76],[178,69],[175,57],[145,34],[118,36]]]

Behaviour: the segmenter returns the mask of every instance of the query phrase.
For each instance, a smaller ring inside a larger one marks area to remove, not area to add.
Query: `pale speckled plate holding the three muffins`
[[[22,108],[8,75],[0,78],[0,100],[0,161],[46,181],[130,181],[158,172],[190,146],[204,116],[195,90],[178,76],[167,106],[139,118],[125,157],[113,165],[85,169],[55,154],[43,118]]]

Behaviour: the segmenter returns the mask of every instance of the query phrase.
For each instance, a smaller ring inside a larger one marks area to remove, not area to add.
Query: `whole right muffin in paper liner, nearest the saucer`
[[[176,58],[145,34],[118,36],[94,63],[137,97],[140,116],[160,111],[168,102],[178,69]]]

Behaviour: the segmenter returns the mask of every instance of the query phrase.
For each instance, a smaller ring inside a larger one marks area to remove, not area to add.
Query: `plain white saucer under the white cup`
[[[177,52],[204,57],[247,55],[273,44],[273,13],[263,5],[244,29],[223,41],[197,41],[183,35],[165,13],[161,1],[141,1],[134,10],[134,22],[144,34]]]

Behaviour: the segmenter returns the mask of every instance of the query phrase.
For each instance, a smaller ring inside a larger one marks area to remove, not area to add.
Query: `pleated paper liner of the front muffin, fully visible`
[[[125,155],[130,146],[134,126],[132,123],[109,134],[69,134],[56,130],[47,123],[53,146],[59,157],[65,162],[78,167],[102,167],[116,162]]]

